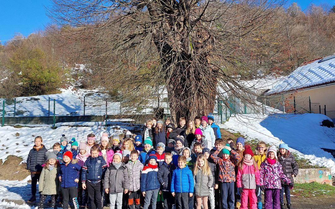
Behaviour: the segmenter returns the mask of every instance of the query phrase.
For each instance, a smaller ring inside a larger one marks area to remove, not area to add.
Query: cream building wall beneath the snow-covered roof
[[[290,94],[285,94],[284,98],[289,96]],[[311,97],[311,102],[320,103],[321,108],[326,105],[327,110],[335,110],[335,85],[298,91],[295,98],[308,98],[309,96]]]

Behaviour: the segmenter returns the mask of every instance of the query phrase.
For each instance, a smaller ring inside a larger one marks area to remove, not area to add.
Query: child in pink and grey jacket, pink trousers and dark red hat
[[[260,193],[261,175],[253,156],[254,153],[250,146],[246,145],[236,176],[237,192],[241,195],[240,209],[248,209],[248,198],[250,209],[257,209],[257,195]]]

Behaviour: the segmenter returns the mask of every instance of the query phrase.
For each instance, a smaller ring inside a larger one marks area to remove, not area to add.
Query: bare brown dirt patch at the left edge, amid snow
[[[2,164],[0,160],[0,180],[23,180],[30,175],[25,169],[26,164],[20,164],[22,159],[17,156],[9,155],[7,160]]]

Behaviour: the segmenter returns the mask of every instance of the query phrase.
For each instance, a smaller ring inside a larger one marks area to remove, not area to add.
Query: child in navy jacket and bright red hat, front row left
[[[77,160],[72,160],[72,152],[66,151],[63,155],[63,164],[61,164],[61,171],[58,174],[59,181],[61,182],[62,194],[63,194],[63,209],[69,207],[69,196],[73,201],[75,208],[79,208],[78,205],[78,182],[79,182],[79,171],[81,167],[76,163]]]

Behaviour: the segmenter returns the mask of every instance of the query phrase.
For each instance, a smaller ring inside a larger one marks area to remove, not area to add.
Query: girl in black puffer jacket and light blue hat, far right
[[[293,177],[298,175],[298,164],[296,163],[293,154],[291,154],[288,150],[288,145],[285,143],[281,143],[279,145],[279,152],[278,152],[278,162],[280,163],[281,167],[283,168],[283,173],[290,181],[293,183]],[[280,190],[280,208],[284,207],[284,192],[286,196],[286,205],[288,209],[291,209],[291,196],[290,196],[290,189],[289,186],[286,185],[281,180],[281,190]]]

